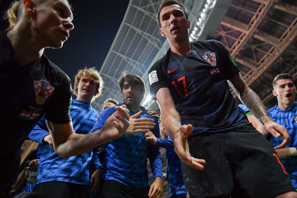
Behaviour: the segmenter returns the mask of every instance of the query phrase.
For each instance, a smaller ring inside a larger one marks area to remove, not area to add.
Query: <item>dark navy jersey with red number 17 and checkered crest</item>
[[[170,49],[149,70],[150,94],[169,88],[182,124],[194,132],[226,132],[246,125],[246,116],[229,91],[227,80],[239,73],[227,48],[216,40],[191,42],[181,56]]]

